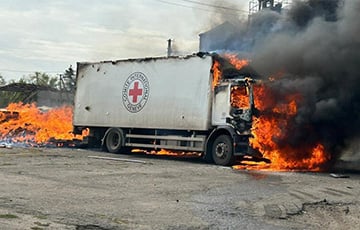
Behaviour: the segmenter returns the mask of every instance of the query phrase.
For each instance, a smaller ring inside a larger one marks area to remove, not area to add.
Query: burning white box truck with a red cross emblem
[[[217,54],[77,63],[74,133],[109,152],[127,148],[201,152],[231,165],[251,154],[253,82],[243,75],[214,82]],[[235,69],[235,68],[234,68]],[[247,105],[236,106],[234,94]],[[242,97],[242,98],[243,98]]]

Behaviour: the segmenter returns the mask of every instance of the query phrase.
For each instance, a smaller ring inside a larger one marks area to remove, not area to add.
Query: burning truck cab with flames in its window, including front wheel
[[[256,112],[253,96],[255,80],[239,76],[215,86],[212,125],[215,127],[207,152],[216,164],[230,165],[236,156],[248,155],[252,116]],[[211,136],[211,135],[210,135]],[[211,147],[210,147],[211,146]]]

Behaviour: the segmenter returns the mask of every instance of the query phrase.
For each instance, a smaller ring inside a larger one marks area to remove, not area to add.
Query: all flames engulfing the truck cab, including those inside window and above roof
[[[238,70],[249,64],[249,60],[241,60],[236,55],[225,55],[225,58]],[[221,68],[221,67],[219,67]],[[279,76],[271,77],[276,81]],[[218,79],[220,81],[220,79]],[[231,93],[232,106],[241,108],[249,105],[249,97],[244,89],[234,88]],[[234,168],[267,169],[267,170],[307,170],[320,171],[330,160],[322,143],[303,143],[301,147],[292,145],[289,133],[292,132],[298,104],[302,96],[291,92],[276,100],[273,92],[265,83],[254,87],[255,106],[260,116],[253,117],[250,145],[257,149],[271,163],[251,162],[248,159]],[[245,166],[244,166],[245,165]]]

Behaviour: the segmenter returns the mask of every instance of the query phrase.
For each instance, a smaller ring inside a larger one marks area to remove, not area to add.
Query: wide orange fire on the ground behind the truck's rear
[[[35,104],[12,103],[5,111],[12,116],[6,119],[4,113],[0,113],[0,140],[40,144],[53,139],[82,139],[81,135],[72,133],[70,106],[41,111]]]

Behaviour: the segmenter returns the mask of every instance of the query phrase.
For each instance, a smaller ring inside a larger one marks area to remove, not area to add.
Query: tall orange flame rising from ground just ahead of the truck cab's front
[[[321,143],[304,143],[301,148],[294,148],[286,143],[287,133],[284,130],[291,130],[297,114],[297,105],[302,100],[301,95],[293,93],[279,102],[274,101],[272,92],[265,85],[255,87],[254,91],[255,105],[260,113],[271,111],[263,113],[253,121],[254,138],[250,139],[250,145],[271,160],[271,164],[262,164],[259,167],[268,170],[322,170],[330,157]],[[282,145],[278,144],[278,140],[282,140]]]

